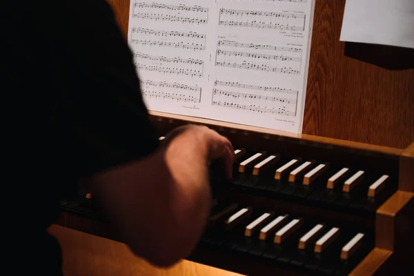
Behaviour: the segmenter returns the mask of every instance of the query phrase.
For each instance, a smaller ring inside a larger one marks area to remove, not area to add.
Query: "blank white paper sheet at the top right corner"
[[[414,0],[346,0],[340,40],[414,48]]]

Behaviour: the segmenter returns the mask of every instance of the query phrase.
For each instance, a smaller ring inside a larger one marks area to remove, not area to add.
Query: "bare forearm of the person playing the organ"
[[[95,177],[97,195],[137,255],[169,266],[193,249],[210,208],[206,152],[197,137],[183,135],[148,159]]]

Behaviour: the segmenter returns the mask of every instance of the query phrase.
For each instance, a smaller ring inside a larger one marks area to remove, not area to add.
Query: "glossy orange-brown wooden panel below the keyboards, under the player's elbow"
[[[157,268],[132,255],[125,244],[52,225],[49,232],[57,237],[63,253],[65,275],[217,275],[237,276],[226,270],[181,261],[167,269]]]

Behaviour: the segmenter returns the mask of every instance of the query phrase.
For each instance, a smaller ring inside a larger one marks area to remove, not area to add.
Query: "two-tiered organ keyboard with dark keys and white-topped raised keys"
[[[161,143],[187,123],[152,119]],[[404,266],[414,144],[398,150],[207,125],[235,146],[233,179],[224,179],[219,162],[211,165],[215,200],[189,259],[248,275],[373,275]],[[61,201],[58,224],[121,241],[93,199],[80,195]]]

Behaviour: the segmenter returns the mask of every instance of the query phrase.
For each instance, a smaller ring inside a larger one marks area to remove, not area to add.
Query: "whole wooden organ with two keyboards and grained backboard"
[[[110,3],[126,35],[129,1]],[[304,134],[151,112],[160,137],[205,124],[237,150],[233,181],[212,168],[215,201],[191,261],[244,275],[412,275],[413,52],[340,42],[344,5],[315,2]],[[135,259],[91,206],[63,200],[51,228],[68,266],[152,274],[130,268]],[[70,244],[79,252],[65,255]]]

